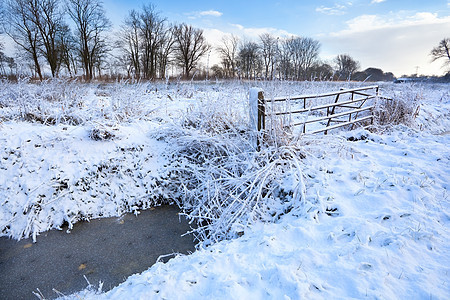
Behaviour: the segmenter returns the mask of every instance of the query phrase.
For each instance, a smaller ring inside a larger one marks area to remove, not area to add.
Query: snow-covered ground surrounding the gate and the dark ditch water
[[[382,84],[407,124],[249,142],[250,87],[360,85],[5,83],[1,235],[173,202],[195,253],[67,298],[448,299],[449,85]]]

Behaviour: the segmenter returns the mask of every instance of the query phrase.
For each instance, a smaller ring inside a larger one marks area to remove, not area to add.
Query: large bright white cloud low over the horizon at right
[[[430,63],[429,53],[450,32],[450,16],[430,12],[408,15],[362,15],[347,21],[347,28],[321,37],[324,56],[349,53],[363,68],[378,67],[395,75],[442,74],[439,63]]]

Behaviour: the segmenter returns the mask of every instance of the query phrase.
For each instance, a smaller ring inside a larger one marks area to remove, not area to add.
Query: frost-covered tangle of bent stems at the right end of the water
[[[256,152],[248,133],[236,129],[211,134],[178,127],[160,138],[173,149],[163,185],[205,245],[240,235],[255,221],[275,221],[302,199],[301,155],[292,146]]]

